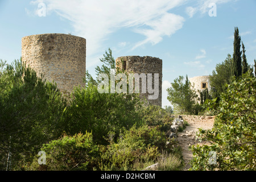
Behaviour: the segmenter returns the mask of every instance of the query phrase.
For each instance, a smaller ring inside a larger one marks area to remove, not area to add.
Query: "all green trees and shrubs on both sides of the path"
[[[138,94],[101,94],[88,72],[86,86],[65,95],[21,60],[1,60],[0,169],[141,170],[158,163],[157,169],[179,170],[181,150],[168,137],[174,112],[216,115],[213,129],[197,134],[211,143],[191,146],[192,170],[255,170],[256,70],[247,64],[243,44],[240,51],[238,28],[234,38],[233,57],[216,65],[213,89],[200,93],[200,104],[187,76],[185,83],[183,76],[174,80],[167,90],[174,110],[146,106]],[[101,61],[97,76],[110,75],[110,49]],[[39,164],[39,151],[45,164]]]

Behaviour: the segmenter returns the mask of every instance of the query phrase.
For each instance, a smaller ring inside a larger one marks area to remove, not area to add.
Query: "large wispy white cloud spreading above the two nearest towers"
[[[73,34],[86,39],[87,56],[97,53],[108,36],[119,28],[130,27],[135,33],[145,36],[134,43],[133,49],[147,43],[157,44],[163,36],[171,36],[183,26],[184,18],[169,13],[185,0],[36,0],[44,2],[47,13],[56,13],[71,21]]]

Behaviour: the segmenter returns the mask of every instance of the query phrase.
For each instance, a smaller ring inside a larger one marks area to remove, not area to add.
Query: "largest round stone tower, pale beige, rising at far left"
[[[22,61],[55,81],[61,92],[71,93],[73,86],[84,86],[86,40],[67,34],[39,34],[22,38]]]

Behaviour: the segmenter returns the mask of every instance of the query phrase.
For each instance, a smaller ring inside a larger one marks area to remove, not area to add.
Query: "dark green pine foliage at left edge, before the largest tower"
[[[37,77],[21,60],[11,65],[1,61],[1,66],[0,166],[11,161],[19,168],[43,143],[60,136],[67,101],[55,84]]]

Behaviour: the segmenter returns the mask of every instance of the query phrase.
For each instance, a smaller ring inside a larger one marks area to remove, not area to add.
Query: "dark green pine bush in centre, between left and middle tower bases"
[[[141,122],[137,107],[138,100],[130,95],[99,93],[97,86],[91,84],[76,88],[67,111],[65,131],[69,135],[92,131],[95,142],[108,144],[105,138],[110,132],[117,137],[123,127],[129,129]]]

